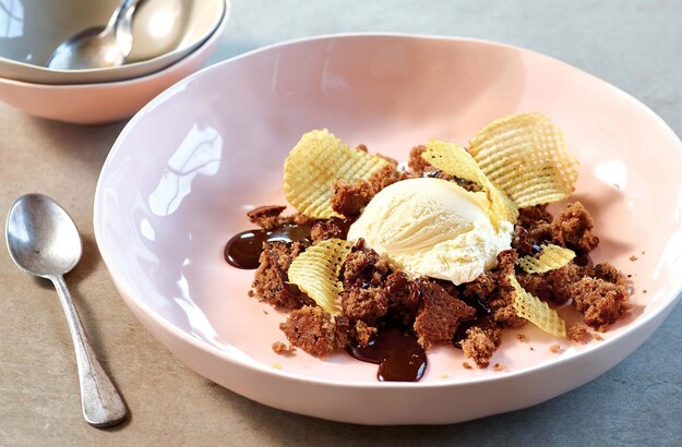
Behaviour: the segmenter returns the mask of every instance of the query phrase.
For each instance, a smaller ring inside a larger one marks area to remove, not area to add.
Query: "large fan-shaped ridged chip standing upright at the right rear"
[[[566,153],[561,129],[540,113],[500,118],[469,142],[480,169],[519,208],[569,197],[578,161]]]

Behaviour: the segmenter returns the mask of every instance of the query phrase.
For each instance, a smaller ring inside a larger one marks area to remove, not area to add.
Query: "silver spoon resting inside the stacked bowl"
[[[123,0],[107,26],[94,26],[61,43],[46,65],[56,70],[86,70],[125,63],[132,50],[132,16],[143,0]]]

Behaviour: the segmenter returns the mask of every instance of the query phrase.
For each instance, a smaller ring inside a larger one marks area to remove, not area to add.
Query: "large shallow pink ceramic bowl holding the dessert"
[[[345,353],[321,361],[272,351],[285,315],[247,295],[253,271],[228,266],[223,249],[252,228],[248,209],[285,203],[283,161],[303,132],[328,128],[405,160],[412,145],[466,144],[486,123],[522,111],[550,117],[581,160],[575,198],[602,241],[594,257],[632,275],[626,318],[587,345],[531,325],[522,330],[528,342],[510,331],[492,359],[503,371],[465,370],[460,351],[436,348],[417,384],[379,383],[374,365]],[[575,388],[658,327],[682,289],[680,166],[682,144],[648,108],[545,56],[444,37],[320,37],[206,69],[140,111],[103,168],[95,234],[131,311],[205,377],[325,419],[452,423]]]

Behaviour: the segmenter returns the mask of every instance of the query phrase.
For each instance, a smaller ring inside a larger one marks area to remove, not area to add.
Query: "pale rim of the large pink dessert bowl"
[[[137,121],[140,121],[142,119],[143,116],[145,116],[152,108],[156,107],[158,102],[164,101],[166,99],[166,97],[172,95],[175,93],[176,89],[181,88],[180,86],[183,84],[187,84],[189,82],[192,82],[193,80],[200,77],[200,76],[204,76],[206,72],[210,71],[215,71],[215,70],[219,70],[222,67],[226,67],[226,65],[230,65],[234,63],[238,63],[240,60],[242,59],[247,59],[247,58],[251,58],[254,55],[260,55],[263,52],[268,52],[272,50],[276,50],[278,48],[284,48],[284,47],[290,47],[290,46],[297,46],[300,44],[306,44],[309,41],[322,41],[322,40],[333,40],[333,39],[347,39],[347,38],[396,38],[396,39],[410,39],[410,40],[441,40],[441,41],[452,41],[452,43],[463,43],[463,44],[475,44],[475,45],[482,45],[482,46],[487,46],[487,47],[495,47],[495,48],[502,48],[502,49],[506,49],[506,50],[515,50],[515,51],[522,51],[524,53],[528,53],[534,57],[540,58],[546,60],[549,63],[553,63],[557,65],[560,65],[564,69],[569,69],[569,70],[573,70],[575,72],[578,72],[581,75],[587,76],[587,78],[590,78],[593,82],[597,82],[599,83],[599,85],[603,88],[608,88],[609,90],[611,90],[614,94],[618,94],[619,96],[621,96],[623,99],[627,100],[629,102],[633,104],[634,106],[636,106],[638,109],[643,110],[647,116],[649,116],[649,118],[653,118],[654,121],[656,121],[660,129],[662,131],[665,131],[666,133],[669,134],[669,136],[672,137],[672,140],[677,143],[678,146],[678,150],[682,152],[682,141],[680,140],[680,137],[675,134],[675,132],[662,120],[662,118],[660,118],[656,112],[654,112],[648,106],[646,106],[644,102],[642,102],[641,100],[638,100],[637,98],[635,98],[634,96],[630,95],[629,93],[622,90],[621,88],[582,70],[578,69],[576,67],[573,67],[566,62],[563,62],[557,58],[550,57],[550,56],[546,56],[542,55],[538,51],[535,50],[530,50],[530,49],[526,49],[519,46],[515,46],[515,45],[510,45],[510,44],[503,44],[503,43],[499,43],[499,41],[494,41],[491,39],[481,39],[481,38],[474,38],[474,37],[458,37],[458,36],[441,36],[441,35],[429,35],[429,34],[410,34],[410,33],[385,33],[385,32],[354,32],[354,33],[334,33],[334,34],[322,34],[322,35],[314,35],[314,36],[308,36],[308,37],[302,37],[302,38],[296,38],[296,39],[290,39],[290,40],[286,40],[286,41],[282,41],[282,43],[275,43],[275,44],[271,44],[271,45],[266,45],[264,47],[260,47],[260,48],[255,48],[253,50],[247,51],[244,53],[235,56],[232,58],[223,60],[220,62],[214,63],[212,65],[205,67],[202,70],[199,70],[194,73],[192,73],[191,75],[184,77],[183,80],[179,81],[178,83],[174,84],[172,86],[168,87],[166,90],[164,90],[161,94],[159,94],[156,98],[154,98],[152,101],[149,101],[147,105],[145,105],[137,113],[135,113],[135,116],[133,116],[130,121],[125,124],[125,126],[123,128],[123,130],[120,132],[119,136],[117,137],[117,140],[113,142],[113,145],[111,146],[111,150],[108,153],[107,158],[103,165],[101,171],[100,171],[100,177],[97,181],[97,186],[95,190],[95,201],[94,201],[94,215],[93,215],[93,224],[94,224],[94,233],[95,233],[95,241],[99,247],[103,261],[105,263],[105,265],[107,266],[107,270],[109,271],[109,275],[111,276],[113,282],[117,285],[117,287],[121,288],[121,297],[123,298],[123,300],[125,301],[125,303],[130,306],[133,305],[135,306],[139,311],[141,311],[142,313],[144,313],[146,315],[146,317],[151,318],[155,324],[157,324],[158,326],[160,326],[168,335],[170,335],[171,337],[178,338],[180,339],[182,342],[184,342],[186,345],[190,345],[192,346],[194,349],[199,349],[201,351],[203,351],[205,354],[208,354],[211,357],[217,357],[219,358],[222,361],[224,362],[228,362],[231,363],[236,366],[241,366],[241,367],[247,367],[251,371],[253,371],[254,373],[263,373],[273,377],[278,377],[278,378],[283,378],[283,379],[287,379],[287,380],[294,380],[294,382],[298,382],[298,383],[306,383],[306,384],[312,384],[312,385],[324,385],[324,386],[332,386],[332,387],[343,387],[343,388],[358,388],[358,389],[374,389],[378,386],[380,386],[383,389],[386,390],[406,390],[406,389],[432,389],[432,388],[451,388],[451,387],[463,387],[463,386],[471,386],[471,385],[480,385],[480,384],[486,384],[486,383],[495,383],[499,380],[510,380],[513,378],[518,378],[522,377],[524,375],[531,375],[531,374],[536,374],[541,372],[542,370],[547,370],[547,369],[554,369],[554,367],[560,367],[565,363],[569,362],[575,362],[576,360],[579,359],[584,359],[590,355],[596,355],[599,354],[600,352],[602,352],[603,350],[607,350],[610,348],[611,345],[615,345],[619,340],[629,337],[630,335],[634,334],[637,331],[637,329],[642,328],[643,326],[648,325],[653,319],[656,319],[660,314],[665,313],[665,312],[669,312],[671,311],[674,305],[678,303],[678,301],[680,300],[680,298],[682,298],[682,281],[680,283],[680,286],[677,288],[677,290],[674,291],[674,293],[669,297],[667,300],[660,302],[659,305],[656,306],[656,309],[654,309],[653,311],[648,312],[646,315],[643,315],[641,317],[638,317],[636,321],[629,323],[629,327],[626,330],[622,330],[619,334],[617,334],[613,337],[610,337],[608,340],[605,340],[605,342],[599,343],[599,345],[594,345],[593,347],[590,347],[589,349],[586,350],[582,350],[578,352],[573,353],[571,357],[569,358],[558,358],[555,360],[552,360],[550,362],[545,362],[538,365],[534,365],[530,367],[525,367],[518,371],[511,371],[511,372],[506,372],[504,375],[489,375],[489,376],[479,376],[479,377],[471,377],[471,378],[467,378],[467,379],[458,379],[458,380],[453,380],[453,379],[443,379],[440,382],[428,382],[428,383],[423,383],[423,382],[418,382],[418,383],[399,383],[399,382],[384,382],[384,383],[380,383],[380,382],[344,382],[344,380],[339,380],[339,379],[330,379],[330,378],[320,378],[320,377],[306,377],[301,374],[292,374],[292,373],[288,373],[287,371],[283,371],[283,370],[276,370],[273,367],[270,367],[265,364],[262,364],[251,358],[248,358],[247,355],[244,355],[243,358],[236,358],[231,354],[226,353],[225,351],[220,350],[219,348],[212,346],[201,339],[198,339],[195,337],[192,337],[190,335],[188,335],[186,331],[182,331],[180,329],[178,329],[176,326],[174,326],[172,324],[170,324],[168,321],[166,321],[164,317],[161,317],[160,315],[158,315],[155,311],[152,310],[152,307],[144,303],[143,301],[139,300],[135,293],[132,293],[130,287],[120,278],[118,271],[116,271],[115,269],[112,269],[109,265],[109,261],[108,261],[108,254],[107,254],[107,250],[106,250],[106,243],[103,240],[103,235],[100,234],[100,216],[98,210],[100,209],[101,205],[100,205],[100,201],[103,197],[101,194],[101,181],[103,181],[103,177],[101,173],[107,169],[107,167],[112,162],[111,160],[117,156],[117,152],[118,148],[121,145],[121,142],[124,141],[128,137],[128,134],[131,132],[132,128],[136,125]],[[130,298],[130,299],[129,299]],[[661,321],[662,322],[662,321]],[[655,330],[658,325],[660,324],[660,322],[654,327],[653,330]],[[148,330],[148,329],[147,329]],[[634,349],[636,349],[638,346],[634,347]],[[246,359],[244,359],[246,358]]]

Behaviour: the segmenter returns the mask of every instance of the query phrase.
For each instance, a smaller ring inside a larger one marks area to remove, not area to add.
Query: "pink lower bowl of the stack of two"
[[[101,124],[128,118],[176,82],[195,72],[218,45],[228,14],[193,52],[156,73],[101,84],[33,84],[0,77],[0,100],[26,113],[75,124]]]

